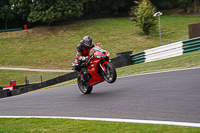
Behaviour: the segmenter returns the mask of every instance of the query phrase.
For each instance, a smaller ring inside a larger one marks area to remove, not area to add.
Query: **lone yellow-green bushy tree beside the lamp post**
[[[151,30],[156,29],[158,20],[153,17],[156,8],[149,0],[143,0],[138,7],[132,8],[130,15],[133,15],[133,24],[139,26],[146,35],[149,35]]]

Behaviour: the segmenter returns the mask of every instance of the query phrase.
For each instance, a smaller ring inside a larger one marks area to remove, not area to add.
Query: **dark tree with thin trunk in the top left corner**
[[[3,0],[0,4],[0,18],[5,21],[5,29],[7,29],[7,21],[15,17],[13,12],[13,5],[9,0]]]

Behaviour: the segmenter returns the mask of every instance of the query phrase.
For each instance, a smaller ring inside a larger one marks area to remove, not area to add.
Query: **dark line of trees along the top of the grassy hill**
[[[142,0],[0,0],[0,29],[76,19],[128,15],[134,1]],[[200,12],[200,0],[150,0],[157,10],[181,8]],[[197,6],[195,6],[197,5]]]

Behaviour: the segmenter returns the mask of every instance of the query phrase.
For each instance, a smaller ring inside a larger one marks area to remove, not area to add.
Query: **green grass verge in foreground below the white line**
[[[0,118],[0,132],[197,133],[200,128],[70,119]]]

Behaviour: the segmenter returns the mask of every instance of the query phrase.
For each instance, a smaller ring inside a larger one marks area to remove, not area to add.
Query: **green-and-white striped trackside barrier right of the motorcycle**
[[[132,64],[151,62],[200,51],[200,37],[148,49],[131,55]]]

